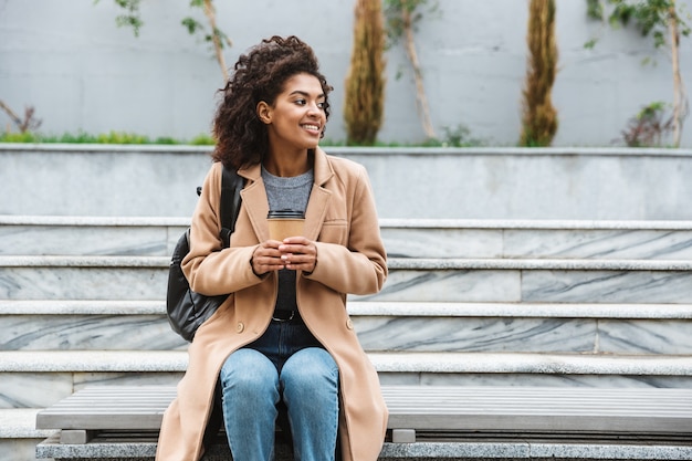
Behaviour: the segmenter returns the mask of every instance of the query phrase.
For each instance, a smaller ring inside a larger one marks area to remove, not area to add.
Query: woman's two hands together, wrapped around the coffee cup
[[[250,262],[256,275],[281,269],[311,273],[317,265],[317,247],[304,237],[266,240],[254,250]]]

